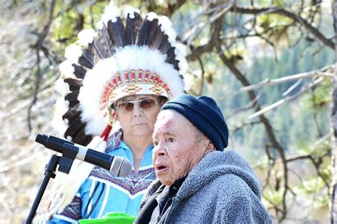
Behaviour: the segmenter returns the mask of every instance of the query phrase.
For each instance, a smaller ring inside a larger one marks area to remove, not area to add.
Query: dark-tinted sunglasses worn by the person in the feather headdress
[[[130,113],[134,109],[134,103],[137,103],[143,111],[151,111],[156,107],[158,100],[140,99],[138,101],[122,101],[114,105],[114,108],[121,113]]]

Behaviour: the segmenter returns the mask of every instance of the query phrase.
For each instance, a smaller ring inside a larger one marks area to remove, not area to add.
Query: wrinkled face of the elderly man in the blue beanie
[[[156,177],[166,186],[185,177],[206,153],[214,150],[208,138],[172,110],[159,113],[153,136]]]

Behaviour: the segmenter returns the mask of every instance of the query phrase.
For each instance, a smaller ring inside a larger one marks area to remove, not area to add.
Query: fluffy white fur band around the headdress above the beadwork
[[[125,59],[128,60],[125,60]],[[100,100],[109,80],[119,72],[124,79],[124,71],[143,69],[156,72],[169,86],[172,96],[183,93],[183,82],[173,65],[165,62],[166,56],[159,50],[150,50],[148,46],[129,45],[117,50],[115,55],[102,60],[89,70],[83,80],[78,96],[81,102],[82,120],[87,122],[85,132],[100,135],[109,119],[104,117],[106,111],[100,110]],[[145,73],[145,72],[144,72]],[[100,77],[97,77],[100,74]],[[124,82],[124,80],[123,80]]]

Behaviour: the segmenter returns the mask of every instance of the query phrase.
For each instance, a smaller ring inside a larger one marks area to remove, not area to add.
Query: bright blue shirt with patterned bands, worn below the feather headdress
[[[152,164],[153,145],[148,147],[141,159],[138,172],[128,177],[114,177],[106,169],[95,167],[82,184],[73,201],[63,213],[53,215],[49,223],[77,223],[79,219],[101,218],[109,212],[124,212],[136,216],[143,195],[156,179]],[[132,151],[120,141],[117,148],[106,150],[113,156],[125,157],[134,164]]]

